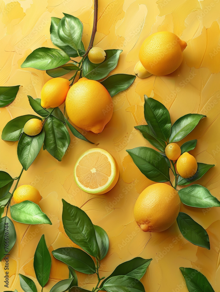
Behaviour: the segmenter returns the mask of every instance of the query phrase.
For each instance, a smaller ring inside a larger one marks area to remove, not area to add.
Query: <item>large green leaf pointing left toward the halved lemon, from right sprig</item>
[[[169,167],[162,154],[148,147],[137,147],[126,150],[133,159],[139,170],[149,180],[158,183],[167,182],[169,178]]]

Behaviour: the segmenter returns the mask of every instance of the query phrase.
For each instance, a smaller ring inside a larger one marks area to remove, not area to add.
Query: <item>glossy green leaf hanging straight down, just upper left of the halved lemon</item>
[[[62,121],[54,116],[50,116],[44,123],[46,150],[58,161],[62,160],[69,144],[70,134]]]

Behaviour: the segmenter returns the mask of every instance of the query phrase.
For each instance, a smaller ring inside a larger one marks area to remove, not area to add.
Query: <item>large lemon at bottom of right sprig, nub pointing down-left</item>
[[[176,220],[180,198],[176,190],[165,183],[150,185],[139,195],[134,206],[134,218],[145,232],[160,232]]]

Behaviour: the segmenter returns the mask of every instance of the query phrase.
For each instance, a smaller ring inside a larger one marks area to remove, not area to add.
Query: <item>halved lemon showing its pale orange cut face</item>
[[[78,187],[90,194],[104,194],[112,189],[119,177],[119,167],[110,153],[92,148],[83,153],[74,168]]]

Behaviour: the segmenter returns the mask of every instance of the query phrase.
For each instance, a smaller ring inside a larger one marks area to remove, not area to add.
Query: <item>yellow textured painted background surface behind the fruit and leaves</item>
[[[49,28],[51,16],[62,17],[62,12],[80,18],[84,25],[83,42],[88,46],[93,25],[91,0],[26,0],[0,2],[1,5],[1,74],[0,85],[22,86],[15,101],[1,108],[0,130],[12,118],[34,113],[27,95],[40,97],[44,83],[50,77],[36,69],[20,69],[28,54],[40,46],[53,47]],[[45,234],[50,251],[74,244],[67,238],[61,221],[61,199],[82,207],[94,224],[103,227],[110,238],[110,248],[101,263],[101,277],[126,260],[141,256],[153,258],[142,278],[148,292],[187,292],[179,267],[200,270],[220,290],[219,208],[198,209],[181,206],[194,220],[207,229],[211,249],[197,247],[185,240],[177,224],[161,233],[142,232],[134,220],[133,209],[138,195],[150,182],[132,162],[126,149],[150,146],[138,130],[144,122],[143,95],[162,102],[170,111],[172,122],[184,114],[200,113],[207,117],[184,138],[198,139],[191,153],[198,162],[216,164],[198,181],[220,199],[219,194],[219,84],[220,84],[220,1],[218,0],[100,0],[98,26],[94,46],[103,49],[123,49],[119,65],[111,73],[133,74],[138,53],[144,39],[157,31],[171,31],[188,44],[179,69],[168,76],[136,78],[126,91],[113,97],[114,112],[101,134],[84,133],[95,142],[95,147],[108,150],[117,160],[120,176],[117,185],[103,195],[90,195],[77,188],[73,180],[74,165],[79,156],[90,149],[89,143],[71,134],[70,147],[62,162],[41,150],[37,159],[24,171],[19,185],[37,187],[43,199],[42,210],[53,225],[25,225],[15,223],[17,241],[10,252],[10,290],[21,292],[18,273],[37,281],[33,271],[33,256],[37,243]],[[181,143],[179,143],[181,145]],[[21,166],[17,158],[17,142],[0,140],[0,166],[11,176],[19,175]],[[0,265],[0,291],[4,291]],[[77,273],[79,285],[91,288],[95,275]],[[50,281],[44,288],[48,292],[59,280],[68,277],[68,269],[52,257]],[[182,288],[183,286],[183,288]],[[37,284],[38,291],[40,287]]]

